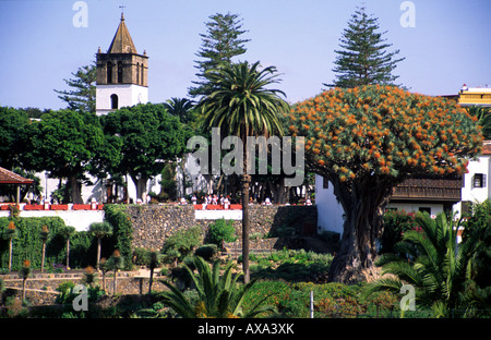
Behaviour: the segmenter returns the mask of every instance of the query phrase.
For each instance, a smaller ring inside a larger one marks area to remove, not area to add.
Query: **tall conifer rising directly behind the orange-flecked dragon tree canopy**
[[[335,50],[337,57],[333,72],[336,80],[333,85],[325,86],[395,85],[398,76],[393,75],[392,71],[405,58],[394,59],[399,50],[387,51],[392,44],[386,44],[386,39],[382,38],[386,32],[378,33],[379,28],[378,19],[368,15],[364,8],[358,8],[339,39],[342,49]]]

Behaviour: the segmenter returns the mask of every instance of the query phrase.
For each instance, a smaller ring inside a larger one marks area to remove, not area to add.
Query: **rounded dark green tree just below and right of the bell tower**
[[[147,181],[161,172],[166,161],[185,151],[191,130],[170,116],[161,104],[141,104],[100,118],[104,133],[119,141],[121,159],[112,162],[111,174],[130,174],[142,198]]]

